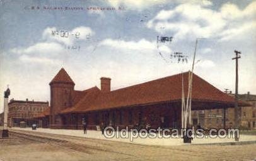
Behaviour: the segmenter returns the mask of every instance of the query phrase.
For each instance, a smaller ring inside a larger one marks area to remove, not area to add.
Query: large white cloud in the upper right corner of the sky
[[[177,40],[198,37],[230,40],[254,27],[256,2],[243,10],[226,3],[219,11],[209,8],[210,3],[206,4],[184,3],[174,9],[162,10],[148,21],[147,26],[159,33],[172,31]]]

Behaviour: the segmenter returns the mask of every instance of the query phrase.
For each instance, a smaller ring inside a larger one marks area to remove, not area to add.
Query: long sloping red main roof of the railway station
[[[189,72],[183,73],[184,92],[187,97]],[[62,113],[86,112],[125,106],[163,103],[182,99],[182,74],[144,82],[110,92],[91,91],[72,108]],[[228,96],[206,80],[193,74],[192,100],[204,102],[233,103]]]

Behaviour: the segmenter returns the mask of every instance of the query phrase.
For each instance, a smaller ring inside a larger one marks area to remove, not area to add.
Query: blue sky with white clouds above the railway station
[[[187,71],[196,38],[206,40],[198,44],[195,74],[235,91],[231,58],[240,50],[239,92],[256,94],[256,1],[1,1],[0,8],[0,112],[7,84],[10,98],[49,101],[49,82],[61,67],[76,90],[100,87],[103,76],[112,78],[113,90]],[[80,35],[64,38],[55,30]],[[158,35],[173,42],[157,48]],[[173,52],[187,55],[188,64],[171,60]]]

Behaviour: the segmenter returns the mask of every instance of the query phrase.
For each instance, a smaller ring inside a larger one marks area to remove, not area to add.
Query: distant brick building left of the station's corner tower
[[[20,101],[11,99],[9,101],[8,126],[20,126],[20,121],[25,121],[30,126],[35,122],[33,119],[39,113],[49,108],[49,102]]]

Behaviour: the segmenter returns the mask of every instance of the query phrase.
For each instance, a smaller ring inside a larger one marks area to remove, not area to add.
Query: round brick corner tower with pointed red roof
[[[62,119],[59,113],[72,106],[74,82],[62,68],[50,81],[50,128],[61,128]]]

